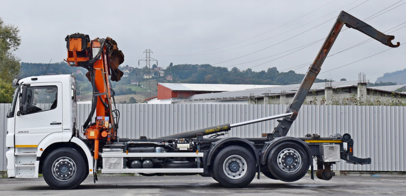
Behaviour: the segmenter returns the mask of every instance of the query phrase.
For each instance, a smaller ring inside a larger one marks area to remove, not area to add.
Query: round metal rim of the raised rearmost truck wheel
[[[300,168],[301,157],[297,150],[286,148],[278,154],[278,166],[284,172],[295,172]]]

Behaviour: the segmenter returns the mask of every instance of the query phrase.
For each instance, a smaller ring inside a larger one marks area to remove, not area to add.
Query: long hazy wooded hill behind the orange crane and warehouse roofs
[[[128,77],[123,77],[116,85],[129,85],[132,80],[145,82],[148,79],[143,78],[143,74],[148,72],[146,68],[132,68],[120,66],[120,70],[129,71]],[[164,75],[172,75],[173,81],[165,80],[164,76],[154,76],[158,82],[181,82],[181,83],[211,83],[211,84],[271,84],[287,85],[298,84],[304,77],[304,74],[294,71],[279,72],[276,68],[269,68],[267,71],[254,72],[251,69],[244,71],[238,68],[215,67],[209,64],[202,65],[173,65],[163,70]],[[81,73],[78,73],[81,72]],[[81,67],[70,67],[66,62],[59,63],[21,63],[20,78],[34,75],[54,75],[54,74],[74,74],[79,83],[87,83],[84,73],[87,71]],[[138,73],[138,74],[137,74]],[[148,80],[149,81],[149,80]],[[147,81],[147,82],[148,82]],[[315,82],[323,82],[322,79],[316,79]],[[83,90],[83,89],[82,89]],[[90,90],[90,87],[89,87]]]

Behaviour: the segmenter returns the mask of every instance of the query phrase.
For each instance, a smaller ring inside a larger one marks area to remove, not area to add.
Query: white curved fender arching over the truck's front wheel
[[[49,147],[50,145],[54,144],[54,143],[60,143],[60,142],[70,142],[76,144],[77,146],[81,147],[81,149],[83,150],[84,154],[86,155],[86,159],[87,159],[87,163],[89,166],[89,169],[93,168],[93,157],[92,154],[90,153],[91,150],[89,149],[89,147],[83,142],[81,141],[79,138],[77,137],[72,137],[72,134],[66,134],[64,132],[57,132],[57,133],[52,133],[50,135],[48,135],[47,137],[45,137],[38,145],[38,150],[37,150],[37,161],[35,163],[35,172],[38,173],[39,170],[39,157],[41,157],[42,152]],[[39,149],[43,149],[42,151]]]

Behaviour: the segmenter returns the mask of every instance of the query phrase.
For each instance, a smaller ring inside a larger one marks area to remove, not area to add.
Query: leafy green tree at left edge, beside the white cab
[[[13,54],[21,44],[18,28],[5,25],[0,18],[0,102],[11,102],[13,89],[11,82],[20,73],[20,58]]]

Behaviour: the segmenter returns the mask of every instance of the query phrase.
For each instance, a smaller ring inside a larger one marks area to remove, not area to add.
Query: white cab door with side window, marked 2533
[[[24,86],[15,118],[15,147],[38,147],[47,135],[62,132],[62,106],[61,82]]]

